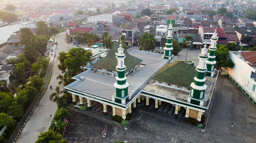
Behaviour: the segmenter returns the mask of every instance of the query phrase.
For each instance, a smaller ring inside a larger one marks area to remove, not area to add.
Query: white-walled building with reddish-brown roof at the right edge
[[[232,81],[256,105],[256,51],[229,51],[229,57],[235,64],[227,68]]]

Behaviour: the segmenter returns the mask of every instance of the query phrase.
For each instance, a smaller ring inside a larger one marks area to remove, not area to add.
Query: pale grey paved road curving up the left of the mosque
[[[49,85],[52,85],[53,90],[47,89],[43,98],[38,103],[38,106],[35,108],[35,111],[30,116],[30,120],[26,123],[22,133],[17,139],[16,143],[35,143],[38,139],[38,135],[41,132],[45,132],[49,129],[51,124],[50,115],[55,115],[57,104],[49,100],[49,95],[55,92],[55,87],[58,86],[56,77],[61,74],[61,71],[58,69],[57,60],[58,53],[61,51],[66,51],[70,49],[70,45],[66,45],[65,41],[65,32],[58,35],[58,45],[55,49],[55,57],[51,56],[51,60],[54,59],[53,68],[52,68],[52,78],[49,82]],[[53,53],[54,55],[54,53]],[[64,87],[61,85],[60,87]]]

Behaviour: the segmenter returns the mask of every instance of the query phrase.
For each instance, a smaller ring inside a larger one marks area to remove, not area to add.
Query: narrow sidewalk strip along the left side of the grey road
[[[54,45],[54,50],[55,50],[55,48],[56,48],[56,45]],[[28,121],[30,121],[29,118],[32,117],[32,113],[34,112],[37,105],[38,106],[40,105],[39,102],[40,102],[41,98],[43,97],[44,93],[47,90],[48,82],[49,82],[50,75],[51,75],[51,72],[52,72],[52,65],[53,65],[53,61],[54,61],[54,56],[51,56],[51,55],[49,55],[49,56],[50,56],[50,61],[49,61],[48,69],[47,69],[47,75],[46,75],[45,80],[44,80],[45,84],[42,86],[41,91],[38,93],[35,100],[32,102],[31,106],[29,107],[29,109],[27,110],[25,115],[23,116],[23,119],[20,121],[20,123],[17,126],[15,132],[13,133],[12,137],[10,138],[9,143],[15,143],[16,141],[17,141],[17,143],[25,143],[25,142],[18,142],[17,137],[19,137],[20,135],[23,135],[22,130],[26,130],[26,127],[27,127],[26,124],[27,124]],[[36,137],[36,139],[37,139],[37,137]],[[28,143],[28,142],[26,142],[26,143]]]

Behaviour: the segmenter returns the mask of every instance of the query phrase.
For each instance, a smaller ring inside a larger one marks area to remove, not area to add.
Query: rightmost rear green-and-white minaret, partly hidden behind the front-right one
[[[216,43],[218,41],[218,37],[217,37],[218,33],[217,33],[217,30],[215,29],[214,31],[214,34],[212,35],[212,38],[211,38],[211,45],[209,47],[209,50],[210,50],[210,53],[209,53],[209,59],[207,59],[206,61],[206,66],[207,66],[207,73],[206,73],[206,76],[210,76],[210,77],[213,77],[214,75],[214,72],[215,72],[215,64],[216,64],[216,61],[214,60],[215,59],[215,50],[217,50],[216,48]]]

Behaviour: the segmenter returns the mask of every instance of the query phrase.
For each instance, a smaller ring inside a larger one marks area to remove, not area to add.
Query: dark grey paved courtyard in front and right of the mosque
[[[227,76],[220,75],[216,87],[205,132],[141,112],[128,130],[109,124],[106,137],[100,139],[105,122],[70,110],[65,137],[69,141],[77,138],[77,142],[82,142],[82,137],[99,137],[99,143],[172,143],[176,139],[177,143],[256,143],[256,106]]]

